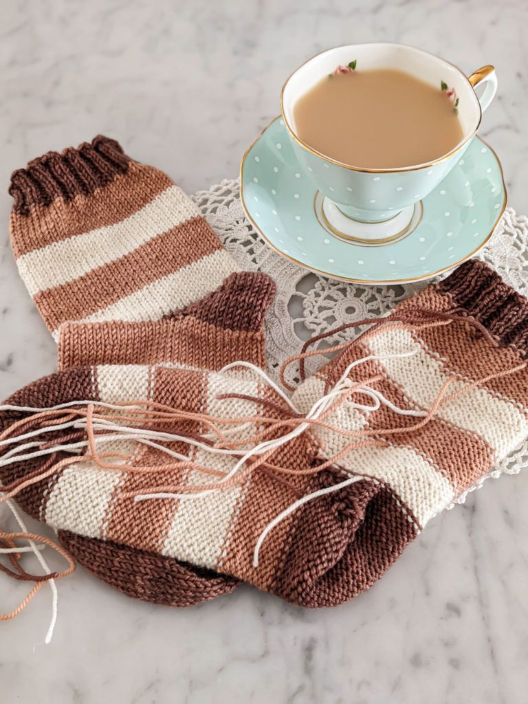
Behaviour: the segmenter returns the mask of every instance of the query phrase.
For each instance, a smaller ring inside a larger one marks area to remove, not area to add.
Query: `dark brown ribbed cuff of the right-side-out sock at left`
[[[9,194],[15,199],[13,210],[28,215],[33,206],[49,206],[57,198],[71,201],[77,194],[89,195],[125,173],[130,159],[115,139],[99,134],[92,144],[62,153],[49,151],[13,171]]]

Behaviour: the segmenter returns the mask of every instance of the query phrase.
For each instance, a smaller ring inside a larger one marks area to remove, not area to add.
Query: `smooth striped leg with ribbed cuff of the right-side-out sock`
[[[113,139],[13,172],[20,275],[55,339],[65,322],[160,320],[239,268],[194,203]]]

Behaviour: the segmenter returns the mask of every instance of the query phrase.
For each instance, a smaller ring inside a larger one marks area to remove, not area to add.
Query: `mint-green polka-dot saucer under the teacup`
[[[255,230],[281,256],[360,284],[405,284],[457,266],[482,249],[506,206],[501,163],[474,137],[439,186],[415,203],[401,232],[373,241],[361,237],[356,221],[352,234],[345,222],[337,229],[327,218],[336,206],[303,171],[282,118],[244,154],[240,197]]]

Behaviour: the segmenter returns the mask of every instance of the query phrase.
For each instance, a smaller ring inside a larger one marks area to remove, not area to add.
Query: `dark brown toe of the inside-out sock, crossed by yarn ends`
[[[69,401],[77,401],[83,399],[98,400],[94,395],[92,386],[92,370],[89,368],[80,367],[67,372],[59,372],[57,374],[37,379],[23,389],[16,391],[15,394],[6,398],[4,404],[9,406],[30,406],[32,408],[47,408],[55,406],[57,403],[68,403]],[[15,411],[5,410],[0,413],[0,431],[3,431],[11,425],[15,420],[20,420],[27,417],[27,414]],[[53,442],[60,439],[64,435],[64,431],[49,433],[46,435],[46,440]],[[54,463],[59,460],[70,457],[67,453],[58,453]],[[44,463],[50,459],[51,455],[44,455],[32,460],[23,460],[21,462],[0,467],[0,481],[2,484],[10,484],[22,477],[28,477],[31,474],[37,473],[42,469]],[[50,465],[51,466],[51,465]],[[29,513],[34,518],[40,518],[45,515],[46,501],[51,493],[51,489],[62,474],[62,470],[58,470],[57,474],[43,479],[42,482],[32,484],[27,489],[20,491],[17,494],[16,501],[26,513]]]

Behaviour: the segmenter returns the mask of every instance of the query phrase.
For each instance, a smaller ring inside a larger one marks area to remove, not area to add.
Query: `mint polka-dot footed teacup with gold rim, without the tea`
[[[463,139],[448,153],[429,163],[390,169],[356,168],[340,163],[313,149],[296,133],[294,103],[320,78],[338,65],[357,61],[367,68],[393,68],[432,85],[454,88],[458,96],[458,119]],[[474,88],[486,84],[479,98]],[[318,187],[327,224],[336,232],[353,237],[361,224],[362,237],[380,240],[394,237],[417,217],[420,201],[436,188],[477,132],[482,112],[497,89],[493,66],[486,65],[466,77],[455,65],[427,51],[402,44],[350,44],[327,49],[303,63],[282,87],[281,110],[284,124],[306,170]],[[365,227],[365,224],[368,227]]]

